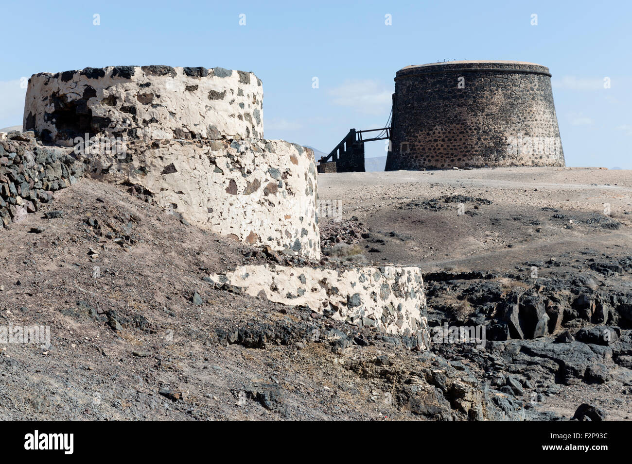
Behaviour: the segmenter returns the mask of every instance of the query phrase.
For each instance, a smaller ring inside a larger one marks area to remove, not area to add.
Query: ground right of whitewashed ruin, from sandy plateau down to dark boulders
[[[629,419],[629,179],[528,168],[320,175],[320,198],[341,210],[320,223],[322,249],[421,266],[431,350],[477,366],[490,388],[533,410],[572,417],[590,403]],[[473,329],[485,330],[484,350],[459,341]]]

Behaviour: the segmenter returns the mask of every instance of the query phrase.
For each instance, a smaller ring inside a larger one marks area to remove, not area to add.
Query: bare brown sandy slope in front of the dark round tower
[[[450,266],[514,271],[527,260],[545,261],[586,248],[613,255],[629,255],[632,248],[629,170],[516,167],[322,174],[319,197],[341,201],[343,218],[356,216],[372,239],[384,241],[363,244],[380,249],[369,261],[427,271]],[[459,203],[465,206],[463,215],[458,215]],[[604,203],[610,205],[609,215],[604,215]]]

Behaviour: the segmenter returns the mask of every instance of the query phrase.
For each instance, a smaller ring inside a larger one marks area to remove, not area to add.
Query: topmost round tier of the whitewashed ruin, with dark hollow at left
[[[24,130],[68,143],[101,133],[127,140],[263,138],[263,86],[224,68],[108,66],[34,74]]]

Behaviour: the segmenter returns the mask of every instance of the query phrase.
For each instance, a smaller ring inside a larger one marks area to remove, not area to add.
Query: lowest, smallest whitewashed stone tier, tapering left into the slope
[[[343,268],[241,266],[210,279],[224,289],[313,312],[356,326],[430,343],[422,273],[415,267]]]

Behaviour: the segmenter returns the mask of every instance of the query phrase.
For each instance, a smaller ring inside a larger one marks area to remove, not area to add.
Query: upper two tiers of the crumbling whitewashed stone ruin
[[[218,234],[320,258],[313,152],[264,140],[262,105],[253,73],[85,68],[32,76],[24,126],[61,146],[118,138],[85,150],[89,175],[142,187]]]

